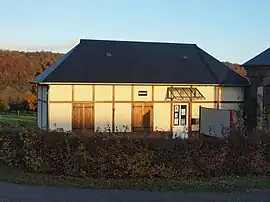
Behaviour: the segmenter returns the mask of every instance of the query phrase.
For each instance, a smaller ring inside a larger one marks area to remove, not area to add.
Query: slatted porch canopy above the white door
[[[193,87],[168,87],[167,98],[172,100],[204,100],[205,97]]]

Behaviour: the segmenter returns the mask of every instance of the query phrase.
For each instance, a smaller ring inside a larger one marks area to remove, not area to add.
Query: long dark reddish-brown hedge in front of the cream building
[[[270,138],[237,131],[225,140],[172,140],[0,132],[1,161],[31,172],[93,178],[188,178],[264,174]]]

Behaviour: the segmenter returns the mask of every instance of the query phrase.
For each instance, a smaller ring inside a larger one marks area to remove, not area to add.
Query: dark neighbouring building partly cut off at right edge
[[[242,65],[251,85],[246,90],[245,105],[250,129],[270,126],[270,48]],[[256,106],[256,107],[250,107]]]

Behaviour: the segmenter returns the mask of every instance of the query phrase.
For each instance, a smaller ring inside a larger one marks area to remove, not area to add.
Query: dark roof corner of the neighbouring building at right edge
[[[242,66],[269,66],[270,65],[270,48],[266,49],[259,55],[250,59]]]

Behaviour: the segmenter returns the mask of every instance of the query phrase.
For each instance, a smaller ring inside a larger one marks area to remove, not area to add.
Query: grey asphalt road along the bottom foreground
[[[31,187],[0,182],[0,202],[270,202],[270,190],[249,193],[147,192]]]

